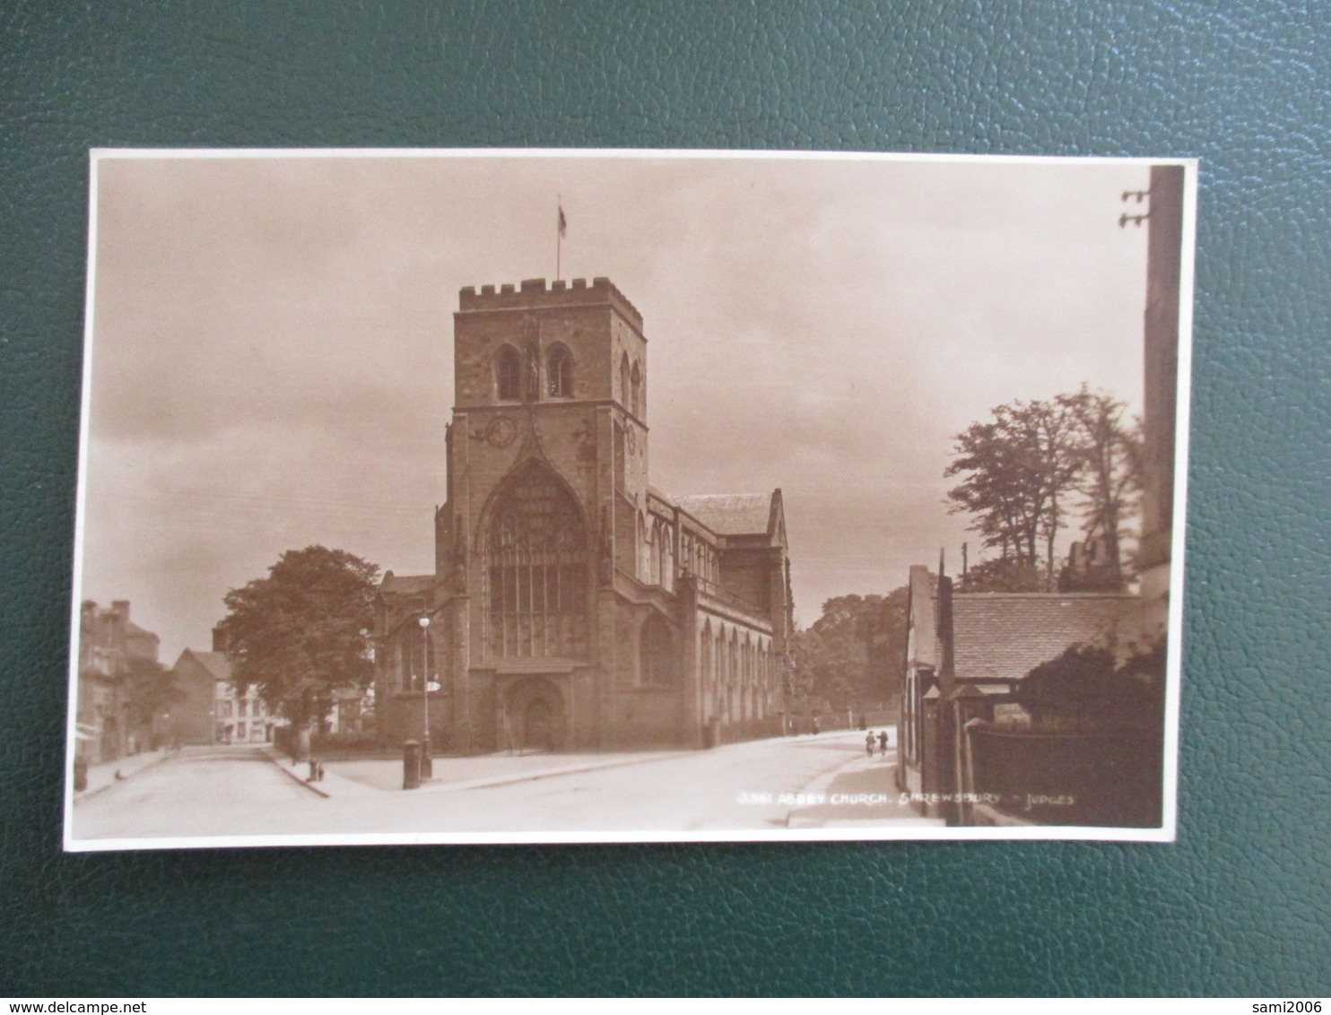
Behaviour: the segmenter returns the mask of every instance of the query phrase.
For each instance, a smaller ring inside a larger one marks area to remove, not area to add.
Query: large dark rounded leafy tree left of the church
[[[365,688],[378,573],[346,551],[306,547],[228,592],[221,629],[237,689],[258,686],[270,710],[309,729],[337,690]]]

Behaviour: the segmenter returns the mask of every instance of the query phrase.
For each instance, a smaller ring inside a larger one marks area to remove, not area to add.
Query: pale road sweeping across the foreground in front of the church
[[[620,757],[627,764],[507,785],[358,786],[331,799],[302,788],[260,752],[197,749],[81,801],[75,834],[688,833],[918,823],[896,802],[892,752],[868,758],[862,737]],[[552,764],[560,757],[550,756]],[[437,768],[437,774],[446,773]]]

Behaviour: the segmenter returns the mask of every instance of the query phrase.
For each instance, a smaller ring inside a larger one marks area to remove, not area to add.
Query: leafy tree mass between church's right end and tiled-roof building
[[[886,698],[906,640],[906,589],[886,596],[837,596],[792,645],[792,689],[832,708]]]

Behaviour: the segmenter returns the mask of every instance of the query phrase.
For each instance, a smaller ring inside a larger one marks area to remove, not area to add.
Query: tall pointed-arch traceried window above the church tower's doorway
[[[572,495],[527,464],[495,504],[486,532],[491,656],[587,656],[587,533]]]

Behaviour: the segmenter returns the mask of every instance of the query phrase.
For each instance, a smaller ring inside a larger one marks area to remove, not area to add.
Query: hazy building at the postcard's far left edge
[[[148,722],[132,701],[134,662],[156,665],[158,639],[129,619],[129,600],[109,609],[85,600],[79,613],[79,756],[114,761],[148,746]]]

